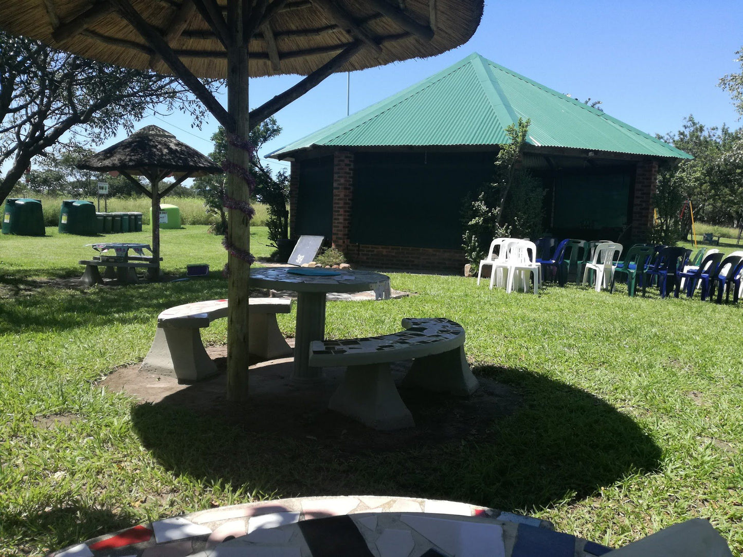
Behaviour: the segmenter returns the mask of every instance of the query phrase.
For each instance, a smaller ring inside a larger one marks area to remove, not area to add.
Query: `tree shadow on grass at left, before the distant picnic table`
[[[34,276],[34,270],[0,274],[0,334],[146,322],[167,307],[221,298],[227,291],[220,276],[84,290],[74,279]]]

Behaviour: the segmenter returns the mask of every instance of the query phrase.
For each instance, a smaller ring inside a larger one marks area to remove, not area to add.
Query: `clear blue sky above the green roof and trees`
[[[730,97],[718,88],[724,74],[740,71],[743,1],[487,1],[467,44],[424,60],[409,60],[351,74],[351,113],[478,52],[562,93],[601,100],[611,116],[649,134],[676,131],[688,114],[708,126],[737,128]],[[255,108],[299,81],[276,76],[250,81]],[[226,103],[226,94],[221,95]],[[346,74],[328,77],[276,114],[284,128],[262,154],[345,117]],[[188,117],[150,117],[179,140],[208,153],[217,124],[201,130]],[[126,137],[123,132],[106,145]],[[276,169],[288,166],[274,164]]]

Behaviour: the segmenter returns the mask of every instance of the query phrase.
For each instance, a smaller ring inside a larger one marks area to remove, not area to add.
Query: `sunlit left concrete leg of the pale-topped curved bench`
[[[198,329],[158,327],[142,370],[175,376],[178,382],[192,382],[216,374],[217,366],[204,350]]]

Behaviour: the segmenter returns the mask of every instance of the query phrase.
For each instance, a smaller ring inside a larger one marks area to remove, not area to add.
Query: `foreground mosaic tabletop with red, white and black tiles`
[[[54,557],[597,557],[551,524],[452,501],[378,496],[226,506],[103,535]]]

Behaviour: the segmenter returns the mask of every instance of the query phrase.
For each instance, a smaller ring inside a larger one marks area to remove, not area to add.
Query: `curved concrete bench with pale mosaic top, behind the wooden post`
[[[250,298],[248,351],[264,359],[291,356],[291,347],[279,330],[276,313],[291,312],[290,299]],[[175,376],[179,382],[210,377],[216,365],[204,350],[199,329],[215,319],[227,317],[227,300],[183,304],[158,316],[152,347],[142,362],[143,371]]]

